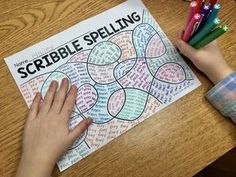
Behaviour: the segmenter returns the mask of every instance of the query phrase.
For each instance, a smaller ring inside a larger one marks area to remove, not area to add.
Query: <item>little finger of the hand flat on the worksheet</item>
[[[29,110],[28,120],[33,120],[34,118],[36,118],[39,112],[40,102],[41,102],[41,94],[36,93],[33,103]]]

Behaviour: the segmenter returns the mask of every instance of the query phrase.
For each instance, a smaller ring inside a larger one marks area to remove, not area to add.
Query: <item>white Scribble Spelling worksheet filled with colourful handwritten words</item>
[[[36,92],[44,97],[52,80],[68,78],[78,87],[69,129],[86,117],[94,123],[58,161],[60,171],[200,85],[140,0],[128,0],[5,61],[28,106]]]

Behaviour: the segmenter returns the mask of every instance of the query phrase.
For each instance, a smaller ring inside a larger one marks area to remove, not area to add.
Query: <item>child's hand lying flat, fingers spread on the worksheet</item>
[[[17,176],[46,177],[63,153],[75,139],[92,123],[91,119],[80,122],[73,131],[68,129],[77,95],[76,86],[71,86],[67,95],[69,82],[53,81],[41,103],[41,95],[34,98],[25,124],[23,136],[23,153]]]

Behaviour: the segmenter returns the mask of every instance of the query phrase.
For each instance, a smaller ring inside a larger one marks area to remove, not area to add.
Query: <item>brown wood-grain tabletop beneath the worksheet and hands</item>
[[[0,0],[0,176],[15,174],[21,153],[27,107],[4,58],[68,27],[118,5],[123,0]],[[221,0],[220,17],[231,31],[219,43],[236,68],[236,4]],[[185,22],[188,3],[144,0],[174,42]],[[189,63],[191,65],[191,63]],[[212,87],[191,65],[202,86],[115,139],[60,177],[188,177],[236,146],[236,128],[204,98]]]

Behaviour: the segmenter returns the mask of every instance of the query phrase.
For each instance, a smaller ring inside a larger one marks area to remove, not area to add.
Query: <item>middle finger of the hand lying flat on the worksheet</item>
[[[58,92],[56,93],[52,103],[52,111],[56,111],[57,113],[61,112],[61,108],[66,99],[68,87],[69,87],[69,80],[66,78],[62,79],[61,86]]]

